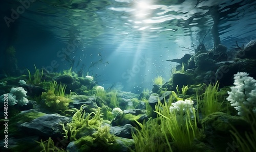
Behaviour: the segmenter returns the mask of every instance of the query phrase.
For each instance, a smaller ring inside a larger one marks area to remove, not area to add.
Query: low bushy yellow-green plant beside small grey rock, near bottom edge
[[[92,134],[93,141],[98,142],[101,145],[108,146],[112,145],[115,141],[114,135],[110,134],[110,126],[103,126],[98,128],[98,130]]]

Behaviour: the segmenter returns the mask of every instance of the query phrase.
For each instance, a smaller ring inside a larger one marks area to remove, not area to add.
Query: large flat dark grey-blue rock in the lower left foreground
[[[28,134],[43,137],[62,137],[62,125],[68,123],[69,118],[57,114],[47,114],[30,122],[20,124],[20,128]]]

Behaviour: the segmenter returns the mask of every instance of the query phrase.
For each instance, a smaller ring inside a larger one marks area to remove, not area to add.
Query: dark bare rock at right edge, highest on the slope
[[[237,58],[256,59],[256,40],[251,40],[249,43],[247,43],[244,49],[238,53]]]

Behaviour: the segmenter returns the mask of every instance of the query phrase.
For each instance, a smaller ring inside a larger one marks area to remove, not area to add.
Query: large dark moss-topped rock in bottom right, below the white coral
[[[231,126],[239,133],[244,133],[250,128],[249,123],[242,117],[230,116],[226,113],[212,113],[202,120],[205,139],[216,151],[225,151],[227,143],[232,143],[230,135]]]

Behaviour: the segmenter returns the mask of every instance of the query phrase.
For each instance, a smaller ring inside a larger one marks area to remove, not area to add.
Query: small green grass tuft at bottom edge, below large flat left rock
[[[35,142],[40,144],[40,147],[42,148],[40,152],[49,152],[49,151],[65,152],[66,151],[62,148],[59,149],[58,147],[56,147],[51,137],[49,137],[49,139],[46,141],[42,141],[41,139],[40,142],[38,141],[35,141]]]

